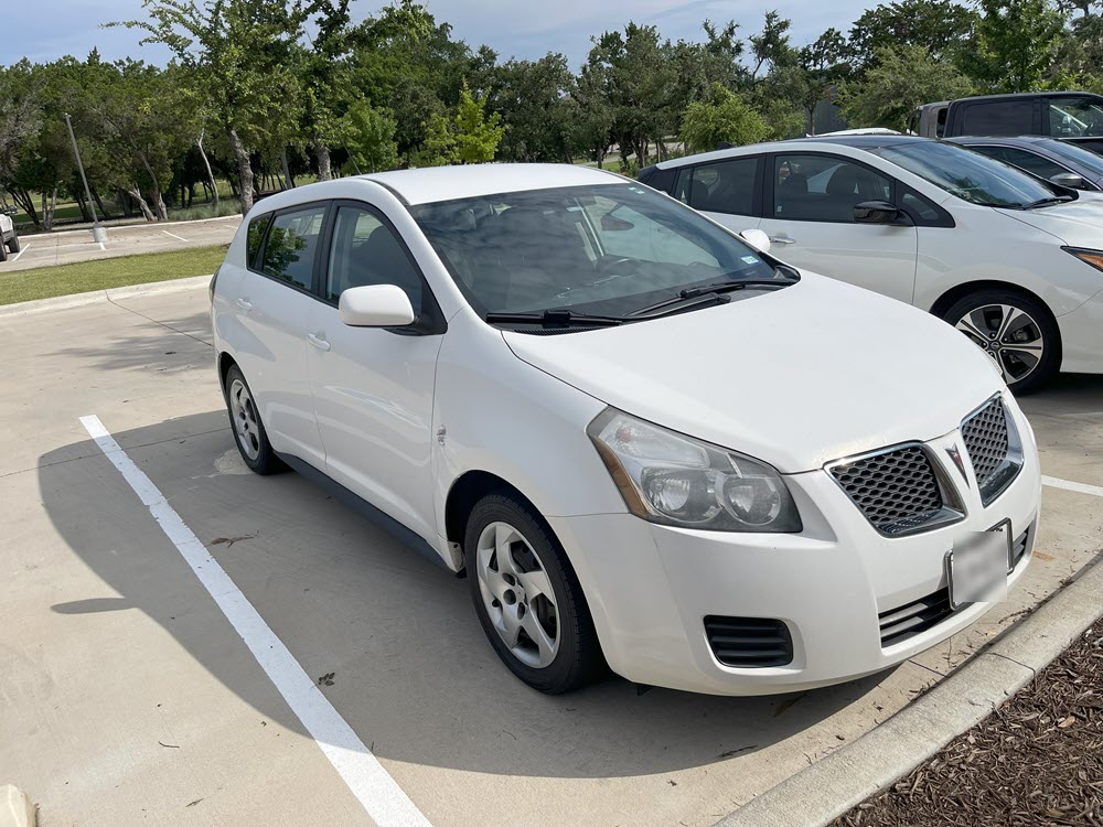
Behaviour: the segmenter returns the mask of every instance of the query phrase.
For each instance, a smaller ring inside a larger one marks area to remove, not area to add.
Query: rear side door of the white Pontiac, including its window
[[[277,212],[266,227],[250,226],[260,248],[237,290],[244,335],[236,351],[272,448],[323,468],[324,453],[307,377],[307,318],[313,297],[326,205]],[[264,235],[260,235],[260,232]]]

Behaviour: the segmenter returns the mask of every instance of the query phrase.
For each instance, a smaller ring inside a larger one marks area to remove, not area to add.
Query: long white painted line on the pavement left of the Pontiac
[[[229,576],[207,552],[144,472],[119,448],[99,417],[81,417],[81,423],[138,498],[149,508],[195,577],[222,609],[226,620],[249,647],[302,726],[313,735],[325,758],[379,827],[429,827],[429,820],[383,769],[352,727],[329,702],[321,689],[283,642],[268,627]]]

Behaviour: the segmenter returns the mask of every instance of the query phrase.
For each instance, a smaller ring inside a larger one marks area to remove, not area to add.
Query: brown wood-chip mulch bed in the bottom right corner
[[[1103,827],[1103,621],[977,727],[833,827]]]

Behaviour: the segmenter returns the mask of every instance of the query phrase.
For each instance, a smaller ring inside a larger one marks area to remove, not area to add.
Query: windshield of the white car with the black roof
[[[951,143],[917,141],[872,151],[973,204],[1022,207],[1057,195],[1032,175]]]

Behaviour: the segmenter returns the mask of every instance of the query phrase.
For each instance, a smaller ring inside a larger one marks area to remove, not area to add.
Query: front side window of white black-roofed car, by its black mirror
[[[892,182],[867,167],[828,155],[777,155],[773,217],[853,222],[864,201],[890,201]]]

